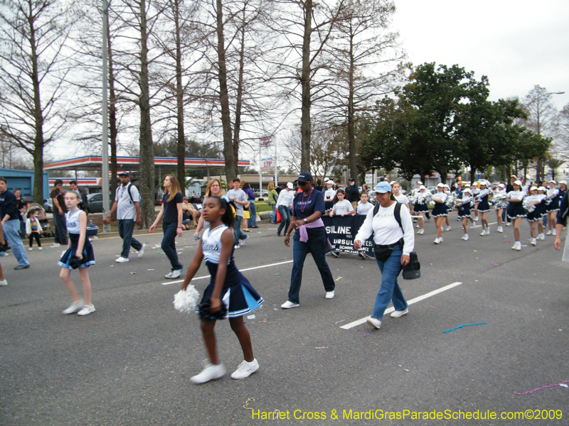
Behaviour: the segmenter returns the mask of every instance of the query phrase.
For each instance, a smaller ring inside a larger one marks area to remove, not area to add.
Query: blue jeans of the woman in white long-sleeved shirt
[[[402,311],[407,309],[407,300],[405,300],[397,283],[397,277],[401,269],[403,269],[403,266],[401,266],[402,255],[403,250],[395,247],[385,262],[376,260],[381,271],[381,288],[376,297],[376,305],[373,307],[371,316],[380,321],[391,300],[393,300],[395,310]]]

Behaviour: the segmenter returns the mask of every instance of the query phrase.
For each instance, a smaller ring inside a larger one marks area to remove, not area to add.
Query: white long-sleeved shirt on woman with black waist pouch
[[[359,240],[362,243],[366,241],[371,236],[373,232],[373,241],[378,246],[388,246],[394,244],[403,238],[403,254],[409,255],[415,247],[415,231],[413,230],[413,219],[411,219],[411,214],[409,209],[405,209],[405,206],[401,206],[401,226],[395,220],[395,202],[387,208],[379,207],[378,214],[373,215],[373,209],[371,209],[366,220],[363,221],[355,240]],[[405,230],[405,233],[403,233]]]

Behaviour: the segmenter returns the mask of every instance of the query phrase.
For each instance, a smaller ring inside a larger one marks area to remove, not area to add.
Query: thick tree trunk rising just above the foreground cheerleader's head
[[[223,155],[225,156],[225,175],[228,182],[237,178],[237,158],[231,141],[231,116],[229,111],[229,92],[227,88],[227,67],[225,66],[225,40],[223,39],[223,5],[216,0],[218,35],[218,79],[221,125],[223,127]]]

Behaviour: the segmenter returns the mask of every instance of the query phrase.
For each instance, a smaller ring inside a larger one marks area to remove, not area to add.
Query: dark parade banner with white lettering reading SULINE
[[[347,254],[358,254],[358,251],[353,249],[353,241],[356,239],[356,234],[363,221],[366,220],[366,216],[361,214],[356,214],[356,216],[334,216],[329,217],[328,215],[322,217],[324,226],[326,227],[326,234],[334,250],[341,251]],[[362,241],[361,253],[375,258],[373,253],[373,241],[368,239],[367,241]]]

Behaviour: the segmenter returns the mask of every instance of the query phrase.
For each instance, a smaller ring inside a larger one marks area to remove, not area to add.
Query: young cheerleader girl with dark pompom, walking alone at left
[[[89,315],[95,312],[95,306],[91,302],[91,281],[89,280],[89,272],[87,268],[95,265],[95,255],[89,239],[87,238],[87,214],[79,209],[78,204],[81,202],[79,195],[75,191],[65,192],[65,206],[68,212],[65,214],[67,219],[67,230],[69,233],[68,249],[63,253],[58,265],[61,266],[59,278],[65,284],[69,295],[73,299],[73,303],[63,311],[63,314]],[[83,295],[85,303],[77,294],[73,280],[70,278],[70,272],[75,266],[76,259],[81,259],[79,265],[79,277],[83,284]]]

